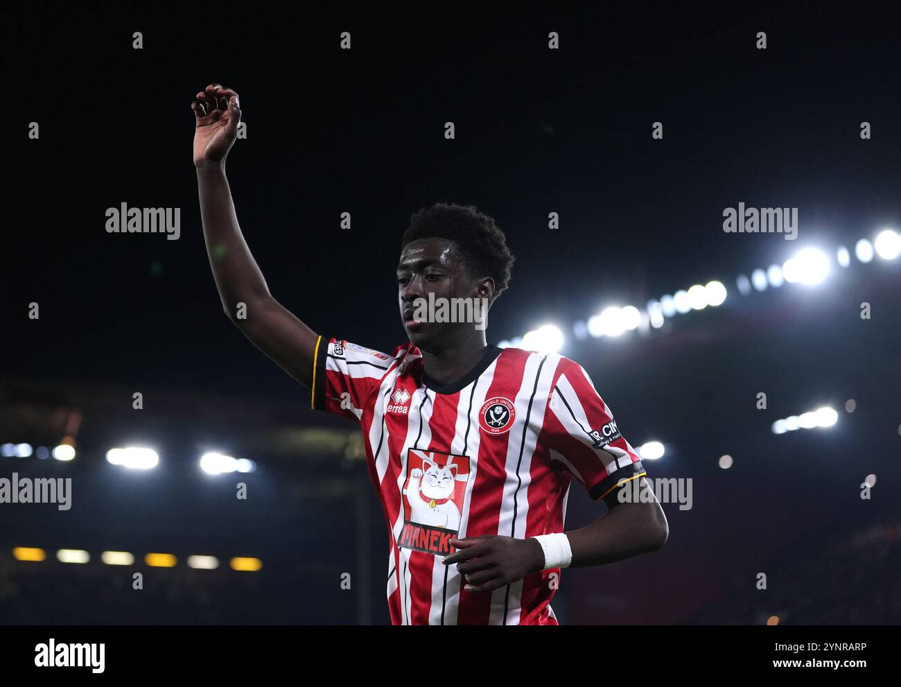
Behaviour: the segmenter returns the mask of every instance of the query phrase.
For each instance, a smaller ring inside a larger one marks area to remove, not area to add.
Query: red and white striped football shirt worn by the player
[[[395,625],[556,625],[559,568],[466,591],[441,563],[449,540],[562,532],[573,476],[599,500],[645,474],[587,372],[557,354],[489,346],[442,386],[414,344],[389,355],[320,337],[312,407],[359,422],[390,532]]]

